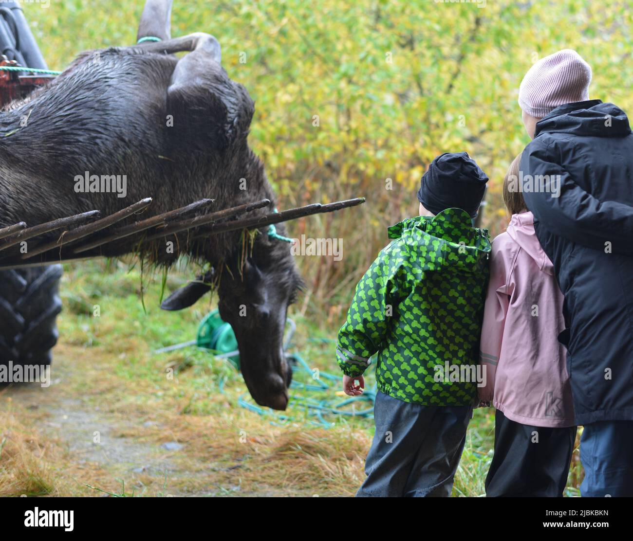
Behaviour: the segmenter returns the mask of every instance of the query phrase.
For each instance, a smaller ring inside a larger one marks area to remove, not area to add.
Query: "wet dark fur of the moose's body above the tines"
[[[216,200],[209,211],[274,201],[263,165],[248,147],[254,104],[246,89],[210,65],[205,85],[168,94],[177,61],[131,48],[84,53],[51,85],[1,113],[0,134],[19,131],[0,137],[0,227],[94,209],[106,216],[144,197],[154,201],[142,218],[204,197]],[[168,115],[173,127],[167,127]],[[84,171],[127,175],[127,197],[76,193],[75,175]],[[247,190],[239,189],[241,178]],[[239,234],[193,243],[183,234],[175,244],[218,261],[232,252]],[[130,251],[133,240],[105,247],[103,254]],[[157,262],[177,258],[166,254],[164,242],[154,248],[149,252]]]

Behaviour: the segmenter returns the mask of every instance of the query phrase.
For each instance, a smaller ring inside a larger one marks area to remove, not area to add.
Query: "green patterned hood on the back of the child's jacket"
[[[462,209],[449,208],[437,216],[407,218],[388,229],[390,239],[399,239],[411,270],[455,268],[480,272],[487,267],[491,251],[488,230],[472,227]]]

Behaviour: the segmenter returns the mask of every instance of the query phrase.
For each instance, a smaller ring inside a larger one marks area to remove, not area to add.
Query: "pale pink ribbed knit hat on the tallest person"
[[[589,99],[589,83],[589,64],[576,51],[563,49],[529,69],[518,90],[518,104],[528,115],[542,118],[559,105]]]

